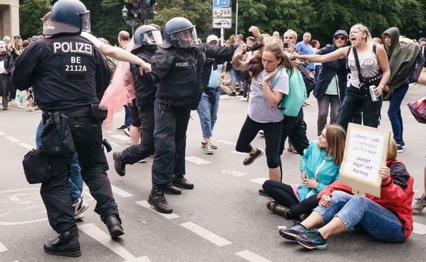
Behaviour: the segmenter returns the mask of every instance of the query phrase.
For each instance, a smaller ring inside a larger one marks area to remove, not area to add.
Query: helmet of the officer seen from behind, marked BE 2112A
[[[43,35],[56,35],[63,32],[80,33],[90,27],[89,11],[78,0],[59,0],[52,8],[51,24],[43,30]]]

